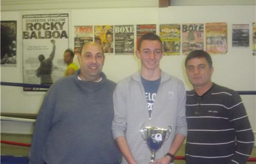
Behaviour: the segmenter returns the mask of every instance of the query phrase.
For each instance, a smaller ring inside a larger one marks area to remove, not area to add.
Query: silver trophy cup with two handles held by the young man
[[[149,163],[153,163],[156,157],[156,152],[161,148],[163,142],[168,139],[171,132],[171,126],[168,126],[167,129],[163,129],[157,127],[146,127],[144,124],[141,124],[141,136],[147,142],[152,154]]]

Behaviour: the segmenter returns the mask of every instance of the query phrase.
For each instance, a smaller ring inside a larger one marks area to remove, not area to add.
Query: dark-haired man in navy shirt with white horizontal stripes
[[[193,90],[187,93],[187,164],[246,163],[254,136],[242,100],[235,91],[212,83],[211,56],[194,50],[185,60]]]

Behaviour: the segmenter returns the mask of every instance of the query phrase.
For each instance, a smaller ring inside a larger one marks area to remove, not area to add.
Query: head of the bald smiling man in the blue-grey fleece
[[[84,80],[97,81],[104,65],[102,47],[97,43],[86,44],[78,56],[80,77]]]

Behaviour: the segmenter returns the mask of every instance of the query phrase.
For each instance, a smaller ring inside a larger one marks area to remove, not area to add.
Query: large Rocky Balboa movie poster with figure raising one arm
[[[68,13],[22,15],[23,79],[49,84],[64,76],[63,53],[68,48]],[[24,91],[45,91],[24,88]]]

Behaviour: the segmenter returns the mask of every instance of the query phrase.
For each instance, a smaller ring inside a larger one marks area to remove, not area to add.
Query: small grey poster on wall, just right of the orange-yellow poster
[[[249,24],[232,25],[232,47],[249,47]]]

